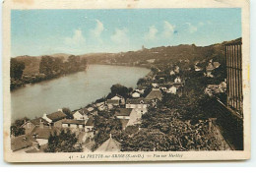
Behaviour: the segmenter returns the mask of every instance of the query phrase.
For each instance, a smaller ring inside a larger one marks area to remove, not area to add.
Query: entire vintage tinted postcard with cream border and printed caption
[[[250,158],[247,0],[6,0],[7,162]]]

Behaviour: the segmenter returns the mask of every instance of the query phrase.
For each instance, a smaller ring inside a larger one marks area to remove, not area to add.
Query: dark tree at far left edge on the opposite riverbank
[[[11,68],[10,68],[10,75],[11,78],[14,79],[21,79],[23,76],[23,71],[25,69],[25,63],[19,62],[17,59],[11,59]]]

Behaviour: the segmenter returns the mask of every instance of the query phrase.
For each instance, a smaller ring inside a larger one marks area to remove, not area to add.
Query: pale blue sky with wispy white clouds
[[[13,10],[11,55],[121,52],[241,36],[240,9]]]

